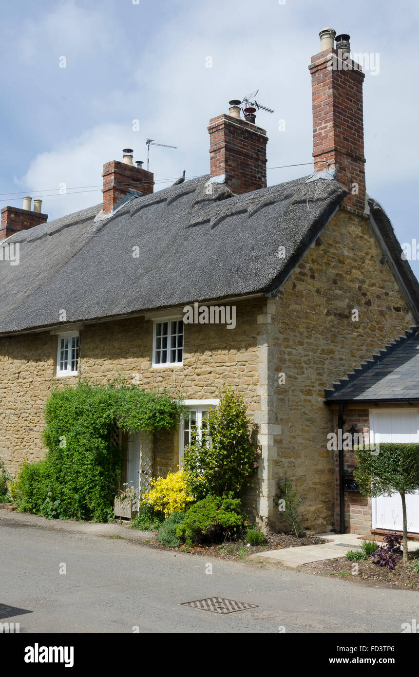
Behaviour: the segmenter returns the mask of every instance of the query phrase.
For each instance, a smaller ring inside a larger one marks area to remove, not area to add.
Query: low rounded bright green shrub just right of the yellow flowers
[[[187,544],[204,541],[222,542],[241,536],[246,526],[246,515],[239,498],[233,496],[206,496],[194,504],[185,515],[176,533]]]

